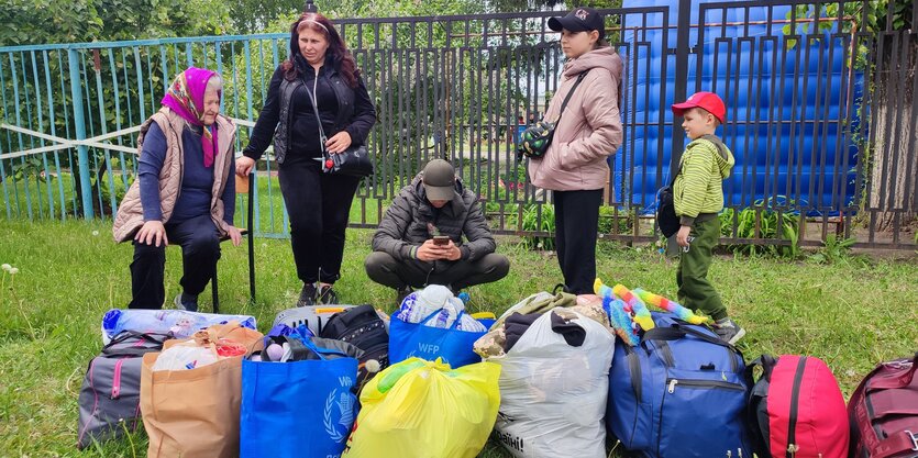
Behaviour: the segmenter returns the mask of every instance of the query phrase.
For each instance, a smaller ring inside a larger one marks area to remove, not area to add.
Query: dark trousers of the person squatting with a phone
[[[490,253],[483,258],[433,262],[420,259],[397,260],[388,253],[374,252],[364,261],[370,280],[397,290],[444,284],[460,291],[473,284],[490,283],[507,276],[510,261],[504,255]]]

